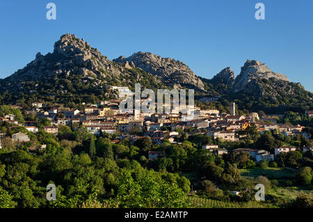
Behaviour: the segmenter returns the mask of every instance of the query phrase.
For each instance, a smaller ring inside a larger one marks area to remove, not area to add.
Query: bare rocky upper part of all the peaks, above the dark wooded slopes
[[[38,52],[33,61],[3,79],[0,84],[3,90],[21,90],[26,87],[23,90],[29,93],[27,84],[50,82],[51,79],[81,79],[83,83],[91,83],[93,88],[143,82],[147,87],[153,83],[154,88],[193,88],[201,93],[213,89],[218,93],[244,92],[271,95],[273,98],[282,88],[289,95],[295,94],[295,88],[302,88],[300,84],[289,84],[284,74],[273,72],[265,63],[255,60],[247,60],[236,78],[232,69],[227,67],[213,79],[200,78],[185,63],[151,52],[138,51],[127,58],[120,56],[111,61],[90,47],[83,38],[69,33],[55,42],[52,53],[42,55]]]

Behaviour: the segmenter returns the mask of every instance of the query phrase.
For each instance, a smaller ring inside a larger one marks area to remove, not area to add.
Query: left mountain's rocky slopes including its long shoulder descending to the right
[[[1,86],[8,90],[21,90],[22,85],[29,81],[70,79],[76,76],[98,88],[108,85],[129,86],[134,84],[134,81],[141,82],[146,79],[161,84],[161,79],[154,75],[141,70],[129,70],[130,68],[129,65],[109,60],[85,40],[67,33],[55,42],[52,53],[44,56],[38,52],[31,63],[4,79]]]

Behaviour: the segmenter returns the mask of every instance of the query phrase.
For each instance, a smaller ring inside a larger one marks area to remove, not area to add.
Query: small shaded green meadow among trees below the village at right
[[[280,180],[280,179],[290,179],[294,177],[294,172],[289,171],[285,168],[252,168],[252,169],[240,169],[240,174],[242,177],[258,177],[259,175],[264,175],[269,180]]]

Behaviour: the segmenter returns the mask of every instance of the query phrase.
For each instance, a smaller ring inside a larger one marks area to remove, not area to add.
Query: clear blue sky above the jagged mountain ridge
[[[56,20],[47,20],[47,3]],[[255,19],[255,4],[265,20]],[[186,63],[211,78],[246,59],[266,63],[313,91],[313,1],[134,0],[0,3],[0,78],[52,51],[63,33],[74,33],[110,59],[151,51]]]

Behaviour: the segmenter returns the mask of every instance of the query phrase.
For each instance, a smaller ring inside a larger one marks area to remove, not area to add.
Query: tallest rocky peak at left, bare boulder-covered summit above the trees
[[[18,70],[12,76],[20,80],[41,79],[63,74],[82,74],[84,77],[102,76],[105,73],[119,74],[119,68],[114,68],[112,61],[102,56],[100,52],[90,47],[88,42],[77,38],[76,35],[66,33],[54,43],[54,51],[45,56],[36,54],[35,59],[26,65],[26,68]]]

